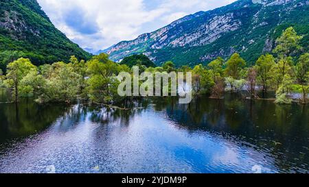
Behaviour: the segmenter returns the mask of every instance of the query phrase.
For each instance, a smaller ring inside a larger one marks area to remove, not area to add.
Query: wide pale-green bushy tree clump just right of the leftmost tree
[[[36,95],[39,103],[71,103],[78,98],[82,76],[71,64],[56,62],[38,69],[40,74],[30,73],[23,79],[23,92]]]

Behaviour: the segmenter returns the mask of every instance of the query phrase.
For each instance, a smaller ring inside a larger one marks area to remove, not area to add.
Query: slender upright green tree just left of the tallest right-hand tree
[[[261,55],[255,62],[255,68],[258,71],[258,83],[263,87],[263,93],[267,92],[269,84],[271,84],[271,68],[275,65],[273,55]]]

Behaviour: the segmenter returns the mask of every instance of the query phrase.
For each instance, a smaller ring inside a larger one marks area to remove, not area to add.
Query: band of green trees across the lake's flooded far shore
[[[276,103],[292,103],[292,93],[300,93],[302,97],[297,101],[306,103],[309,53],[299,45],[300,40],[295,29],[288,27],[277,38],[272,53],[261,55],[254,66],[248,66],[238,53],[233,53],[226,62],[219,57],[207,66],[199,64],[194,68],[176,67],[170,61],[155,67],[144,55],[126,58],[122,63],[109,60],[105,53],[88,61],[71,56],[68,64],[55,62],[41,66],[35,66],[30,59],[19,58],[8,64],[6,75],[1,75],[0,86],[10,90],[13,102],[21,97],[32,97],[39,103],[82,100],[123,105],[122,101],[128,97],[117,94],[120,83],[117,75],[122,71],[133,73],[131,66],[136,65],[141,71],[151,73],[192,72],[194,96],[208,94],[220,99],[225,91],[239,92],[245,88],[250,96],[248,99],[262,99],[264,94],[258,95],[258,90],[262,93],[275,90]]]

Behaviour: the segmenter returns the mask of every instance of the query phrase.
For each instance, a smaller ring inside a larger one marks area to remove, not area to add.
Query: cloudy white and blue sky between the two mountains
[[[52,23],[82,48],[106,49],[188,14],[236,0],[38,0]]]

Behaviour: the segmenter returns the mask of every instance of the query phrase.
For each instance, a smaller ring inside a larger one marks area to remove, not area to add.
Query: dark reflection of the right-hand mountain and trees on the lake
[[[172,105],[168,117],[186,129],[220,132],[244,145],[271,153],[277,168],[306,171],[309,163],[309,120],[306,105],[275,105],[246,101],[237,95],[225,100],[198,98],[190,107]],[[295,167],[296,166],[296,167]]]

